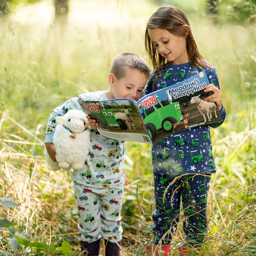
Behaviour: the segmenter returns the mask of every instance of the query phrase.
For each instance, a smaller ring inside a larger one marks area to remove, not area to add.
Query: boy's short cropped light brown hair
[[[136,69],[143,73],[147,79],[150,77],[150,68],[146,61],[135,53],[120,53],[113,59],[110,72],[116,76],[116,79],[121,79],[126,75],[128,69]]]

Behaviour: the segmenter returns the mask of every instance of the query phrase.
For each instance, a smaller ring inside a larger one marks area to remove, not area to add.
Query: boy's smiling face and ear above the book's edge
[[[113,74],[109,74],[110,90],[108,99],[132,99],[137,101],[142,95],[147,80],[143,73],[135,69],[128,69],[126,75],[121,79],[116,79]]]

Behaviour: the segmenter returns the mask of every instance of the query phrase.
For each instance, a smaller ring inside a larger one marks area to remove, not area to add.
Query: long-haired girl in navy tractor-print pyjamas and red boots
[[[145,45],[155,71],[144,95],[161,89],[163,83],[172,86],[205,70],[211,84],[205,86],[204,92],[214,92],[205,100],[216,102],[222,118],[220,123],[210,126],[222,124],[226,111],[221,103],[217,72],[198,52],[186,15],[174,6],[160,7],[148,20]],[[175,143],[177,139],[183,141],[178,143],[179,146]],[[195,140],[199,142],[197,147],[192,143]],[[183,158],[177,157],[180,150],[184,153]],[[162,158],[163,152],[169,152],[169,160]],[[180,255],[187,255],[184,253],[188,249],[202,245],[207,231],[207,194],[211,173],[216,172],[209,125],[166,137],[156,147],[152,147],[152,156],[156,209],[152,215],[154,236],[147,249],[155,251],[158,245],[165,255],[169,255],[172,234],[178,228],[182,204],[186,239],[179,243],[179,250]],[[203,161],[194,164],[194,157],[200,157]],[[179,175],[175,172],[178,165],[183,169]]]

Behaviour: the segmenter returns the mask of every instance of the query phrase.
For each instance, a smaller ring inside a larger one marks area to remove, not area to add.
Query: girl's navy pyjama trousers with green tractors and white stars
[[[179,225],[181,197],[185,219],[182,218],[183,223],[180,224],[187,236],[186,240],[194,245],[203,243],[208,224],[206,216],[210,179],[211,174],[176,177],[154,174],[156,210],[152,215],[152,231],[156,239],[164,236],[166,242],[172,240],[172,234]],[[170,187],[165,191],[168,185]]]

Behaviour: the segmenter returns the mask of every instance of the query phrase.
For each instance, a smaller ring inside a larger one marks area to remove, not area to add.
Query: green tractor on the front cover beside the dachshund
[[[159,103],[160,108],[156,108],[153,104],[152,107],[154,108],[154,112],[148,115],[143,107],[143,112],[145,114],[144,122],[152,140],[156,137],[156,131],[162,129],[164,132],[172,132],[173,125],[183,119],[179,102],[172,103],[172,97],[168,94],[167,99],[170,104],[163,106],[156,96],[156,100]]]

